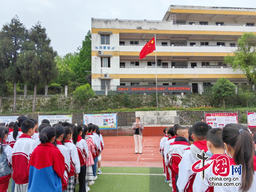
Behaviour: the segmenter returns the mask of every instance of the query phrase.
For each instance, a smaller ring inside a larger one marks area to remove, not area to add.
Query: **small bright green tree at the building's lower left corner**
[[[89,84],[77,87],[74,91],[75,102],[80,106],[85,106],[88,109],[88,102],[95,96],[95,93]]]

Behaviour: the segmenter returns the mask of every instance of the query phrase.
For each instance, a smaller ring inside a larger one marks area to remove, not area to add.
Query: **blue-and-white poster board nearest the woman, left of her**
[[[117,114],[84,114],[84,124],[89,123],[100,129],[117,129]]]

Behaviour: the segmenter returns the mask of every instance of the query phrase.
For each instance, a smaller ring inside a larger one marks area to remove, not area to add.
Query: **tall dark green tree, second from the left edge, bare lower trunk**
[[[27,83],[34,85],[32,112],[36,111],[37,85],[48,84],[58,76],[54,61],[57,52],[53,50],[50,43],[46,29],[38,21],[28,31],[28,41],[24,43],[26,50],[18,58],[22,76]]]

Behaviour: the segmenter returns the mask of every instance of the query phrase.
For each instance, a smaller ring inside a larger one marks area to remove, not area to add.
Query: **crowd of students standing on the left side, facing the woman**
[[[101,172],[104,142],[97,125],[17,118],[0,124],[0,192],[90,191]],[[98,171],[97,171],[98,164]],[[97,172],[96,172],[97,171]]]

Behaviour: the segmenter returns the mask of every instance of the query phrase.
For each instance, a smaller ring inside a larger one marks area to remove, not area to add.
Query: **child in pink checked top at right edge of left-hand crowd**
[[[92,171],[92,165],[94,165],[93,156],[92,154],[95,154],[95,146],[93,139],[88,136],[88,127],[84,125],[85,129],[85,141],[89,148],[89,154],[88,154],[88,162],[86,163],[86,176],[85,176],[85,187],[86,191],[90,190],[90,187],[88,185],[92,185],[95,182],[93,181],[93,171]]]

